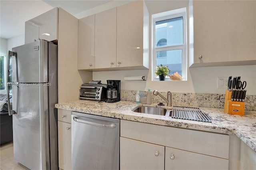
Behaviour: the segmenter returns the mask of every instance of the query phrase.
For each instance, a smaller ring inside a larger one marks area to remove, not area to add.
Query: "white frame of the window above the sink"
[[[183,17],[183,44],[156,47],[156,30],[155,30],[156,22],[162,21],[162,20],[168,20],[172,18],[178,18],[181,16]],[[187,80],[187,24],[186,23],[187,23],[186,7],[152,15],[152,80],[153,81],[159,80],[155,74],[156,52],[167,51],[167,50],[177,50],[177,49],[182,49],[182,80],[183,81]],[[172,73],[170,72],[170,74]]]

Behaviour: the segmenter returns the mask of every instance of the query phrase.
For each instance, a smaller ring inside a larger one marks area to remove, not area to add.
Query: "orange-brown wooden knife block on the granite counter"
[[[244,102],[231,101],[232,91],[226,90],[224,112],[244,116]]]

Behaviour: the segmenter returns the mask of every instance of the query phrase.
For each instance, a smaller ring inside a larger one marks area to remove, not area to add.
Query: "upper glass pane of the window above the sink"
[[[183,17],[156,22],[156,46],[183,44]]]

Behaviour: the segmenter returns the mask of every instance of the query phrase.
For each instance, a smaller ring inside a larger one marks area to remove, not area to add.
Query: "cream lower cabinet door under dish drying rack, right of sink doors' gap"
[[[165,147],[165,170],[228,170],[228,160]]]

